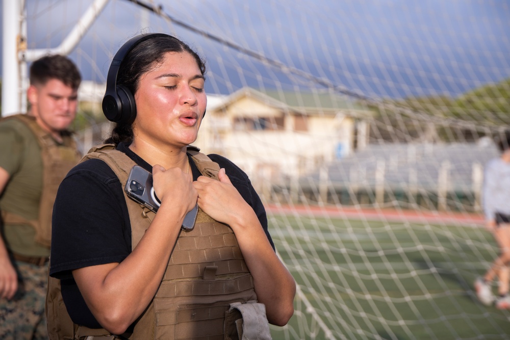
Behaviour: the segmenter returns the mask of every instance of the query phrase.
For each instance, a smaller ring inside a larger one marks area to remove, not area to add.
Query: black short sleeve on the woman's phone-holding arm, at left
[[[131,253],[131,224],[122,186],[103,161],[88,160],[62,181],[53,212],[50,275],[121,262]]]

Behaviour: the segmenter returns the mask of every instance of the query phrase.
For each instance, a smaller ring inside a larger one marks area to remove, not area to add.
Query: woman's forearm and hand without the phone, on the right
[[[284,326],[294,313],[294,278],[276,256],[253,208],[234,187],[225,169],[220,169],[218,179],[200,176],[193,182],[198,206],[232,228],[253,276],[257,300],[266,306],[267,319]]]

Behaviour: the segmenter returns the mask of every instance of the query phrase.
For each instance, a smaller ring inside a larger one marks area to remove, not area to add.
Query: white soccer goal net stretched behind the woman
[[[93,2],[26,3],[41,48]],[[104,84],[123,42],[164,32],[206,59],[196,145],[249,175],[297,283],[274,339],[500,339],[510,311],[473,282],[498,255],[482,188],[510,123],[509,17],[499,1],[112,0],[71,58]]]

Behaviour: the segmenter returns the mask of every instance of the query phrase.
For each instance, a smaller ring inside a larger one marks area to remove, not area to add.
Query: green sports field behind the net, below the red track
[[[295,315],[273,339],[510,338],[510,312],[473,292],[497,256],[483,227],[268,218],[298,284]]]

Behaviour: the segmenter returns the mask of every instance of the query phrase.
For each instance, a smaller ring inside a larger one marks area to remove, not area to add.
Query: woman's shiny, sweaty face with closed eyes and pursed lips
[[[189,53],[167,53],[140,78],[135,140],[176,148],[193,143],[207,105],[204,81]]]

